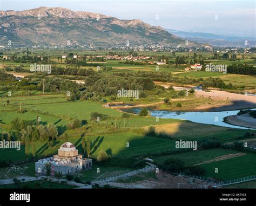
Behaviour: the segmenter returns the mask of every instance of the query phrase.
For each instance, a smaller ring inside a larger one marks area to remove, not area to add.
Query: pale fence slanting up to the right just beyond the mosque
[[[112,177],[106,177],[106,178],[103,178],[101,180],[95,180],[95,181],[92,181],[92,184],[96,184],[96,183],[97,184],[103,184],[105,182],[111,182],[111,181],[119,180],[120,178],[125,178],[125,177],[130,177],[130,176],[133,176],[133,175],[137,175],[139,173],[147,173],[147,172],[151,171],[154,168],[156,168],[156,166],[154,164],[152,164],[151,166],[147,166],[147,167],[144,167],[142,169],[129,171],[129,173],[123,173],[123,174],[112,176]]]

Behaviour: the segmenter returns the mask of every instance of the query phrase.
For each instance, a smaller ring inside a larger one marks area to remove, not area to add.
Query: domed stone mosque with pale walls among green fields
[[[92,159],[83,158],[78,149],[70,142],[65,142],[58,149],[58,154],[36,162],[36,174],[46,175],[45,164],[51,163],[51,175],[74,174],[92,168]]]

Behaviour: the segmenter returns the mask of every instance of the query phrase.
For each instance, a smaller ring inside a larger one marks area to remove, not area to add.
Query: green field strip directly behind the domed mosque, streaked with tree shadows
[[[148,152],[176,149],[173,140],[153,138],[130,132],[91,136],[90,140],[92,141],[92,155],[95,156],[97,156],[98,152],[102,149],[112,155],[138,155],[146,154]],[[69,141],[75,143],[80,154],[83,153],[83,148],[80,142],[81,138],[74,138]],[[126,147],[127,142],[130,145],[129,147]],[[64,143],[63,139],[57,140],[55,145],[52,148],[49,148],[46,142],[37,142],[36,158],[39,159],[57,154],[62,143]],[[153,148],[151,147],[152,145],[154,145]],[[16,149],[0,149],[0,160],[11,160],[12,162],[25,161],[24,145],[22,145],[21,150],[18,151]]]

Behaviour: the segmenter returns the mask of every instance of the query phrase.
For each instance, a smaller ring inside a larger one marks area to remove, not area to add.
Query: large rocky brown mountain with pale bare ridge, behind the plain
[[[160,26],[65,8],[0,11],[0,45],[185,45]],[[199,45],[190,42],[188,46]]]

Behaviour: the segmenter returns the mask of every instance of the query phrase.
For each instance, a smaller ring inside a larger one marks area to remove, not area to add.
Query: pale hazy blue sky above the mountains
[[[0,10],[63,7],[119,19],[141,19],[165,29],[255,37],[255,0],[0,0]]]

